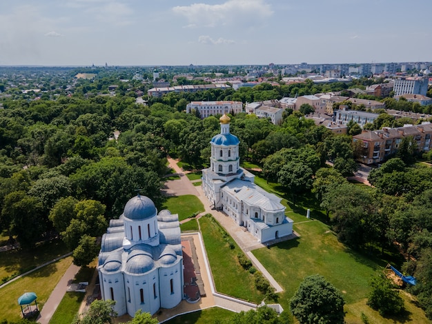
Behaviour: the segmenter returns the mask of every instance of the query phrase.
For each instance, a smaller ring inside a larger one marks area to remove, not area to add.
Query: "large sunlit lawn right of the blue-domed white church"
[[[366,305],[369,281],[382,271],[384,261],[370,259],[349,249],[337,241],[328,225],[320,221],[294,224],[294,230],[300,238],[278,243],[270,249],[253,250],[257,259],[284,288],[279,298],[282,307],[288,309],[289,299],[305,276],[321,274],[344,295],[347,323],[362,323],[362,312],[370,323],[394,323]],[[429,323],[424,312],[414,303],[406,302],[405,305],[411,323]],[[419,318],[422,321],[417,321]]]

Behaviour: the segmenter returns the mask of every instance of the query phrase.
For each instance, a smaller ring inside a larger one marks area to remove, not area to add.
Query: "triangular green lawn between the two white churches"
[[[243,253],[242,250],[228,235],[235,246],[234,249],[230,249],[219,232],[219,228],[222,227],[216,220],[212,221],[210,217],[203,216],[198,221],[217,292],[260,303],[264,295],[257,291],[253,275],[244,270],[237,260],[237,254]]]

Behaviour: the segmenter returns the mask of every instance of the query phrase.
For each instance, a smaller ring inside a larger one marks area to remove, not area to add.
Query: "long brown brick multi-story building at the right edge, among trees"
[[[408,125],[399,128],[383,128],[382,130],[363,130],[362,134],[353,136],[353,142],[360,141],[360,156],[362,163],[379,163],[394,154],[404,137],[412,136],[418,150],[431,150],[432,124]]]

